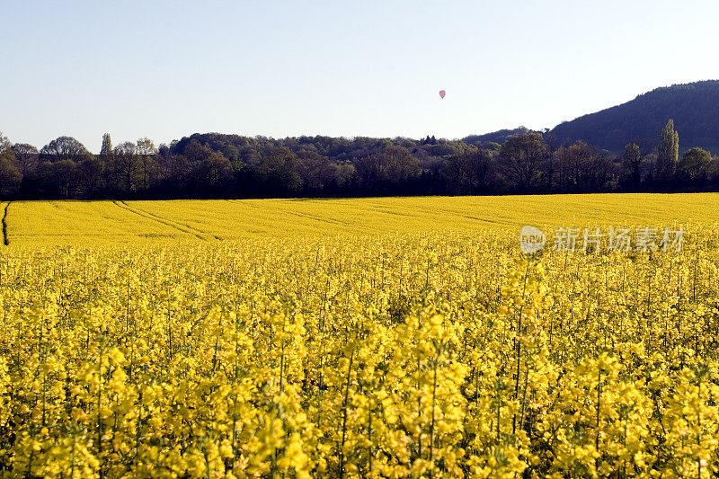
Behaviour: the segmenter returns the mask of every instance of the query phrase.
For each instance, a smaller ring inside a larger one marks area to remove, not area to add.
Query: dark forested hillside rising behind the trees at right
[[[719,80],[674,84],[640,94],[631,102],[566,121],[551,131],[564,142],[581,139],[619,153],[627,143],[643,152],[657,146],[657,131],[673,119],[679,150],[719,150]]]

